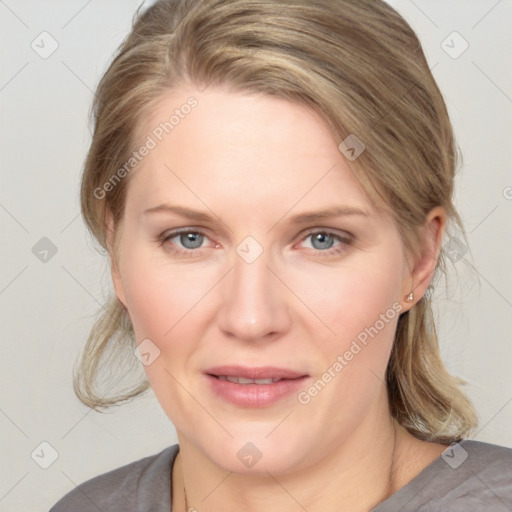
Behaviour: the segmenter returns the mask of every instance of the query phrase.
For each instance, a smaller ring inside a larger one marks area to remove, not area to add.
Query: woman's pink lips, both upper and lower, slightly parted
[[[220,375],[245,377],[247,379],[282,379],[272,384],[237,384],[218,378]],[[288,368],[272,366],[217,366],[205,372],[214,393],[238,407],[269,407],[280,400],[296,394],[304,386],[309,375]]]

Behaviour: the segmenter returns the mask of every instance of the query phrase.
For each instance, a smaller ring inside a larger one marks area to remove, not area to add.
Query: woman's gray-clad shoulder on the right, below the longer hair
[[[452,443],[374,512],[510,512],[512,448],[480,441]]]

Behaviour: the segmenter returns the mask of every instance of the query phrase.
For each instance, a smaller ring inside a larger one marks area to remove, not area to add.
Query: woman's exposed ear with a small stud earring
[[[436,206],[427,215],[421,229],[418,254],[411,260],[410,278],[404,280],[403,311],[414,306],[425,294],[436,269],[441,251],[444,231],[446,229],[446,212],[443,207]],[[410,293],[412,301],[407,301]]]

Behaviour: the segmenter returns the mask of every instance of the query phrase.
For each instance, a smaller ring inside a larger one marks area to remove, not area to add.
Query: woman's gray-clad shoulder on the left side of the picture
[[[156,455],[92,478],[66,494],[50,512],[157,512],[160,508],[155,503],[168,511],[171,467],[178,451],[179,445],[175,444]]]

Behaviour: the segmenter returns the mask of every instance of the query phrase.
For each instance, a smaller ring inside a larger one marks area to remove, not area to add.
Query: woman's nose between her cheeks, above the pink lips
[[[219,327],[226,336],[244,341],[275,340],[291,326],[286,287],[269,268],[265,252],[251,263],[234,256],[222,283]]]

